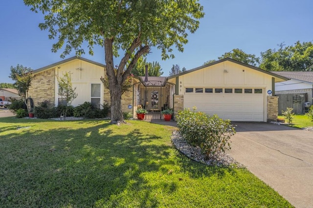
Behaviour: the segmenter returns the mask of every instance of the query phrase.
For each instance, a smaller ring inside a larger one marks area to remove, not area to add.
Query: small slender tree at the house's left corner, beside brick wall
[[[33,109],[31,109],[30,100],[28,99],[28,91],[31,86],[31,81],[34,79],[34,76],[32,74],[32,69],[23,67],[22,65],[17,65],[16,67],[11,66],[10,68],[10,78],[15,81],[14,85],[16,86],[16,89],[19,91],[19,95],[22,97],[28,113],[32,112]]]

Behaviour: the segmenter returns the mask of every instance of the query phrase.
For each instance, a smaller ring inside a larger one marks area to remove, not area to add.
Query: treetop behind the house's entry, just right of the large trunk
[[[148,64],[148,76],[161,76],[163,75],[161,65],[156,62],[147,62],[147,58],[140,57],[135,64],[132,74],[136,76],[145,76],[145,65]]]

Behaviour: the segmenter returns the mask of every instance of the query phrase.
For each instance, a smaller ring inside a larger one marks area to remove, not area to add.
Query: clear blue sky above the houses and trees
[[[189,36],[184,52],[175,59],[161,60],[160,52],[152,49],[149,62],[158,61],[163,76],[168,76],[173,64],[187,70],[203,62],[217,59],[225,52],[239,48],[248,54],[278,48],[284,42],[313,41],[313,0],[200,0],[205,17],[200,28]],[[22,64],[32,69],[62,60],[61,51],[51,52],[55,42],[38,24],[43,16],[29,10],[22,0],[0,2],[0,83],[13,81],[8,77],[10,66]],[[87,50],[88,51],[88,50]],[[72,57],[71,54],[68,57]],[[82,57],[105,64],[104,49],[95,47],[94,56]],[[114,60],[116,65],[119,58]]]

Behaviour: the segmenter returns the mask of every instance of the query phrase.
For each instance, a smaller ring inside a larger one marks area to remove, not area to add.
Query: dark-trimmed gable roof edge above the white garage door
[[[197,71],[197,70],[200,70],[200,69],[203,69],[205,67],[208,67],[208,66],[213,66],[215,64],[218,64],[218,63],[222,63],[224,61],[230,61],[230,62],[233,62],[233,63],[236,63],[236,64],[239,64],[239,65],[242,65],[242,66],[245,66],[245,67],[248,67],[250,69],[254,69],[256,71],[259,71],[259,72],[262,72],[262,73],[265,73],[265,74],[268,74],[270,76],[274,76],[274,77],[277,77],[277,78],[280,78],[280,79],[283,79],[285,81],[287,81],[289,78],[287,77],[284,77],[284,76],[280,76],[280,75],[276,75],[274,73],[271,73],[271,72],[268,72],[268,71],[265,71],[261,68],[258,68],[256,66],[252,66],[252,65],[249,65],[249,64],[246,64],[246,63],[243,63],[243,62],[240,62],[240,61],[237,61],[235,59],[232,59],[232,58],[223,58],[221,60],[217,60],[217,61],[214,61],[212,63],[209,63],[209,64],[205,64],[203,66],[200,66],[200,67],[197,67],[197,68],[194,68],[194,69],[191,69],[191,70],[188,70],[188,71],[185,71],[185,72],[182,72],[182,73],[179,73],[177,75],[173,75],[173,76],[169,76],[168,79],[172,79],[172,78],[175,78],[175,77],[178,77],[178,76],[182,76],[182,75],[185,75],[185,74],[188,74],[188,73],[191,73],[191,72],[194,72],[194,71]]]

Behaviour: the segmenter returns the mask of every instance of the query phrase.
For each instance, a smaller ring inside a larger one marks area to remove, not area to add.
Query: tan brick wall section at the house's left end
[[[55,76],[54,69],[50,69],[35,75],[29,88],[28,95],[33,99],[34,105],[40,102],[50,100],[50,103],[55,102]]]

